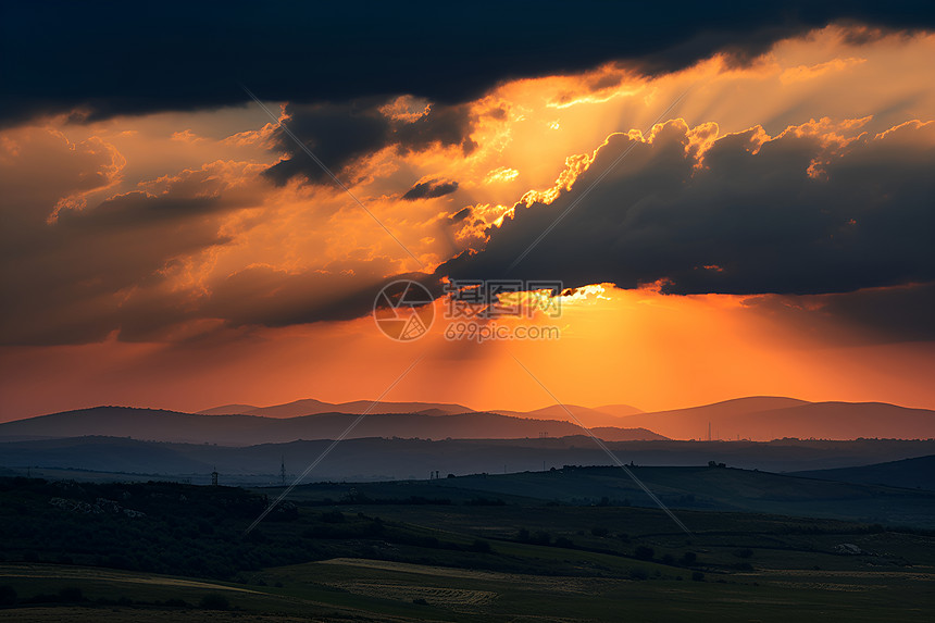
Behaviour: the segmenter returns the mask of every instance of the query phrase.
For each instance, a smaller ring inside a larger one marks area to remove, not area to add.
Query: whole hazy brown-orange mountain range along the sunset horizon
[[[314,399],[271,407],[225,404],[198,413],[96,407],[0,424],[0,439],[100,435],[140,440],[252,446],[336,439],[364,412],[350,438],[521,439],[587,434],[606,441],[782,438],[935,438],[935,411],[882,402],[808,402],[748,397],[643,412],[627,404],[596,409],[554,404],[534,411],[473,411],[437,402],[331,403]]]

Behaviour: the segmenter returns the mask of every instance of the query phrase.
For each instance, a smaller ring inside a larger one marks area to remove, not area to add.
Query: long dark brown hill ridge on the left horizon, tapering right
[[[259,415],[202,415],[98,407],[53,413],[0,424],[0,439],[41,439],[108,435],[152,441],[251,446],[296,439],[336,439],[359,416],[349,413],[319,413],[300,418]],[[569,422],[509,418],[496,413],[373,413],[361,420],[349,438],[406,437],[439,439],[523,438],[578,435],[583,431]],[[614,439],[661,439],[643,429],[608,431]]]

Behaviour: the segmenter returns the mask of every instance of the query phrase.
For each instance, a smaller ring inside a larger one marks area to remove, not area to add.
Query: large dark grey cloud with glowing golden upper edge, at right
[[[438,274],[568,287],[659,282],[680,295],[811,295],[935,279],[935,124],[844,148],[830,147],[820,126],[762,146],[756,136],[722,137],[698,169],[683,122],[666,123],[651,144],[612,135],[571,191],[551,204],[516,204],[482,251]]]

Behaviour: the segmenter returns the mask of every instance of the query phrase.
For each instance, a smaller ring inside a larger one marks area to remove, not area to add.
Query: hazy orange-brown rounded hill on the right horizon
[[[935,437],[935,411],[882,402],[805,402],[791,398],[755,397],[705,407],[631,415],[622,426],[640,426],[670,438],[766,441],[802,439]]]

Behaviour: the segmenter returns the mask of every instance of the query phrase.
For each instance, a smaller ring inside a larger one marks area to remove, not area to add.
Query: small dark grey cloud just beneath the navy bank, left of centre
[[[414,121],[394,119],[381,112],[386,100],[356,100],[342,104],[288,104],[286,125],[306,147],[342,178],[342,170],[356,160],[385,147],[400,153],[432,146],[458,147],[470,153],[473,120],[464,105],[437,105]],[[312,183],[328,182],[328,175],[282,128],[273,140],[290,155],[271,166],[266,175],[277,185],[302,176]]]

